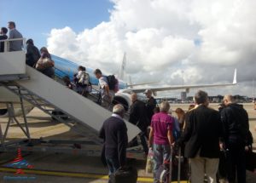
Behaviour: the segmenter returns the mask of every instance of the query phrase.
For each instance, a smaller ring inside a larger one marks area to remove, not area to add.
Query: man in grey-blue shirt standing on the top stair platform
[[[8,22],[8,28],[9,28],[9,39],[22,38],[20,31],[17,31],[17,29],[16,29],[14,21]],[[23,40],[10,41],[9,42],[9,51],[20,51],[20,50],[22,50],[22,46],[23,46]]]

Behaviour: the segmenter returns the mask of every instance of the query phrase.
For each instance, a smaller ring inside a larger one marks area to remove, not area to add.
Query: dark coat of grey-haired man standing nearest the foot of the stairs
[[[104,140],[105,157],[118,157],[120,166],[124,166],[128,145],[125,122],[118,117],[109,117],[103,123],[99,136]]]

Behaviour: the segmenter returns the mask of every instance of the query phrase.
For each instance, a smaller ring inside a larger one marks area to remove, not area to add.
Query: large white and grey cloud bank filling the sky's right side
[[[252,95],[255,1],[112,2],[108,22],[81,32],[68,26],[52,29],[47,40],[49,51],[116,74],[126,52],[126,74],[134,83],[231,82],[237,68],[240,87],[212,91]]]

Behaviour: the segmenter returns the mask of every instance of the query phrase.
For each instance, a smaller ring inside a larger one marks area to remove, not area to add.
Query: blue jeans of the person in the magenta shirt
[[[154,182],[158,182],[156,179],[157,170],[160,168],[160,165],[164,163],[165,160],[169,160],[171,156],[171,146],[170,145],[153,145],[154,151]]]

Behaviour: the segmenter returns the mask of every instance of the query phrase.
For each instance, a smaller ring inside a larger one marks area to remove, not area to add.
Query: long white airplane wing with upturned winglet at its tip
[[[139,89],[122,89],[121,92],[134,92],[134,93],[143,93],[146,89],[152,90],[155,94],[157,91],[166,91],[166,90],[177,90],[177,89],[198,89],[198,88],[210,88],[210,87],[223,87],[223,86],[232,86],[236,85],[236,70],[234,73],[233,83],[215,83],[215,84],[201,84],[201,85],[179,85],[179,86],[167,86],[167,87],[151,87],[151,88],[139,88]]]

